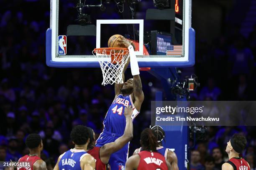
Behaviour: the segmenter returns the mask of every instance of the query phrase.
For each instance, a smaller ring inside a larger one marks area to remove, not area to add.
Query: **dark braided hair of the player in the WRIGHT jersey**
[[[157,139],[154,131],[146,128],[141,132],[141,146],[143,150],[156,151]]]

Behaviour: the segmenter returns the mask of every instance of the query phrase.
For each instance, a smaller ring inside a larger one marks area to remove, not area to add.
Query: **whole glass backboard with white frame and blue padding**
[[[195,63],[192,0],[51,0],[46,63],[51,67],[99,67],[94,48],[120,34],[136,43],[140,67],[188,67]]]

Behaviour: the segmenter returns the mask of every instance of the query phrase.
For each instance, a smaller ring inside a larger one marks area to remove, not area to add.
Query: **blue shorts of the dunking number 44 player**
[[[100,137],[96,141],[96,146],[101,147],[106,143],[114,142],[117,138],[119,138],[120,134],[110,133],[108,131],[103,131]],[[111,154],[109,159],[109,165],[111,170],[124,170],[125,163],[128,157],[129,143],[125,144],[123,148],[118,150],[117,152]]]

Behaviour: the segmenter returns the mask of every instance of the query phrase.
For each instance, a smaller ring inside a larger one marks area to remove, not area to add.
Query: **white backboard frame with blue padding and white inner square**
[[[93,55],[72,55],[72,56],[58,56],[56,40],[58,37],[58,5],[59,0],[51,0],[51,21],[50,28],[46,31],[46,64],[49,67],[99,67],[99,63]],[[191,28],[191,7],[192,0],[184,1],[183,5],[183,55],[181,57],[159,57],[158,55],[151,55],[145,57],[141,52],[136,54],[139,67],[189,67],[195,64],[195,30]],[[188,9],[187,9],[188,8]],[[189,11],[189,13],[185,13]],[[133,20],[136,23],[136,20]],[[133,22],[127,20],[127,22]],[[125,21],[123,21],[125,22]],[[97,20],[97,33],[100,30],[99,25],[104,23],[120,23],[120,20]],[[143,20],[138,21],[140,29],[143,30]],[[140,30],[141,31],[141,30]],[[143,31],[142,31],[143,32]],[[143,40],[143,33],[142,35]],[[140,37],[141,42],[141,37]],[[99,47],[99,42],[96,42],[96,47]],[[140,44],[142,46],[142,43]],[[143,49],[140,47],[140,49]]]

